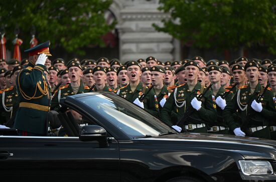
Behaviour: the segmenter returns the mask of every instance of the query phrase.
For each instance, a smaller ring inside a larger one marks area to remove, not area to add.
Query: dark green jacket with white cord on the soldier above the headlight
[[[273,119],[273,112],[271,111],[274,111],[275,108],[272,99],[273,93],[270,90],[267,90],[264,93],[263,99],[260,101],[263,108],[261,112],[256,112],[251,108],[253,100],[257,99],[260,92],[260,84],[257,84],[253,94],[250,93],[249,85],[239,87],[233,99],[228,102],[227,106],[223,110],[223,118],[231,130],[240,127],[242,123],[245,122],[248,112],[253,112],[254,117],[250,119],[250,122],[246,126],[247,128],[267,126],[269,120]],[[239,102],[237,101],[237,98],[239,98]],[[246,105],[247,109],[244,109]],[[237,118],[235,118],[235,114],[237,114]]]

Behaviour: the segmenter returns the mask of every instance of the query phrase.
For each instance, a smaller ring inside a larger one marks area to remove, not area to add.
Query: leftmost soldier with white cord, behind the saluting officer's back
[[[23,67],[16,66],[11,71],[11,83],[16,85],[16,77]],[[4,123],[8,127],[13,127],[15,122],[16,112],[18,110],[18,93],[16,86],[5,89],[1,94],[0,112],[4,115]]]

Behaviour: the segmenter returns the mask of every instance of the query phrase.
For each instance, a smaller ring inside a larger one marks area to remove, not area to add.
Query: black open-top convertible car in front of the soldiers
[[[276,141],[177,133],[112,93],[61,105],[67,137],[0,130],[2,181],[276,181]]]

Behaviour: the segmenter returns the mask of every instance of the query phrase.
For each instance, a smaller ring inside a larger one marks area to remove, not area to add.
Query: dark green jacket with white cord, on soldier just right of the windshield
[[[206,88],[204,88],[205,91]],[[175,125],[178,120],[184,115],[186,109],[192,107],[191,101],[196,97],[201,90],[200,82],[197,82],[195,88],[190,91],[188,84],[179,85],[175,88],[174,92],[170,95],[165,103],[163,109],[161,110],[161,118],[164,122],[169,125]],[[186,106],[182,107],[176,106],[176,101],[179,106],[186,101]],[[191,117],[185,122],[187,124],[208,124],[211,121],[216,120],[216,104],[212,100],[212,92],[209,90],[206,95],[201,99],[201,108],[198,111],[194,111]],[[170,113],[177,113],[177,120],[172,120]]]

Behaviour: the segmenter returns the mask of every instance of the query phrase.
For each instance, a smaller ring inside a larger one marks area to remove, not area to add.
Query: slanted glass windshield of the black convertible
[[[157,136],[175,132],[144,109],[115,94],[97,94],[78,98],[130,138]]]

